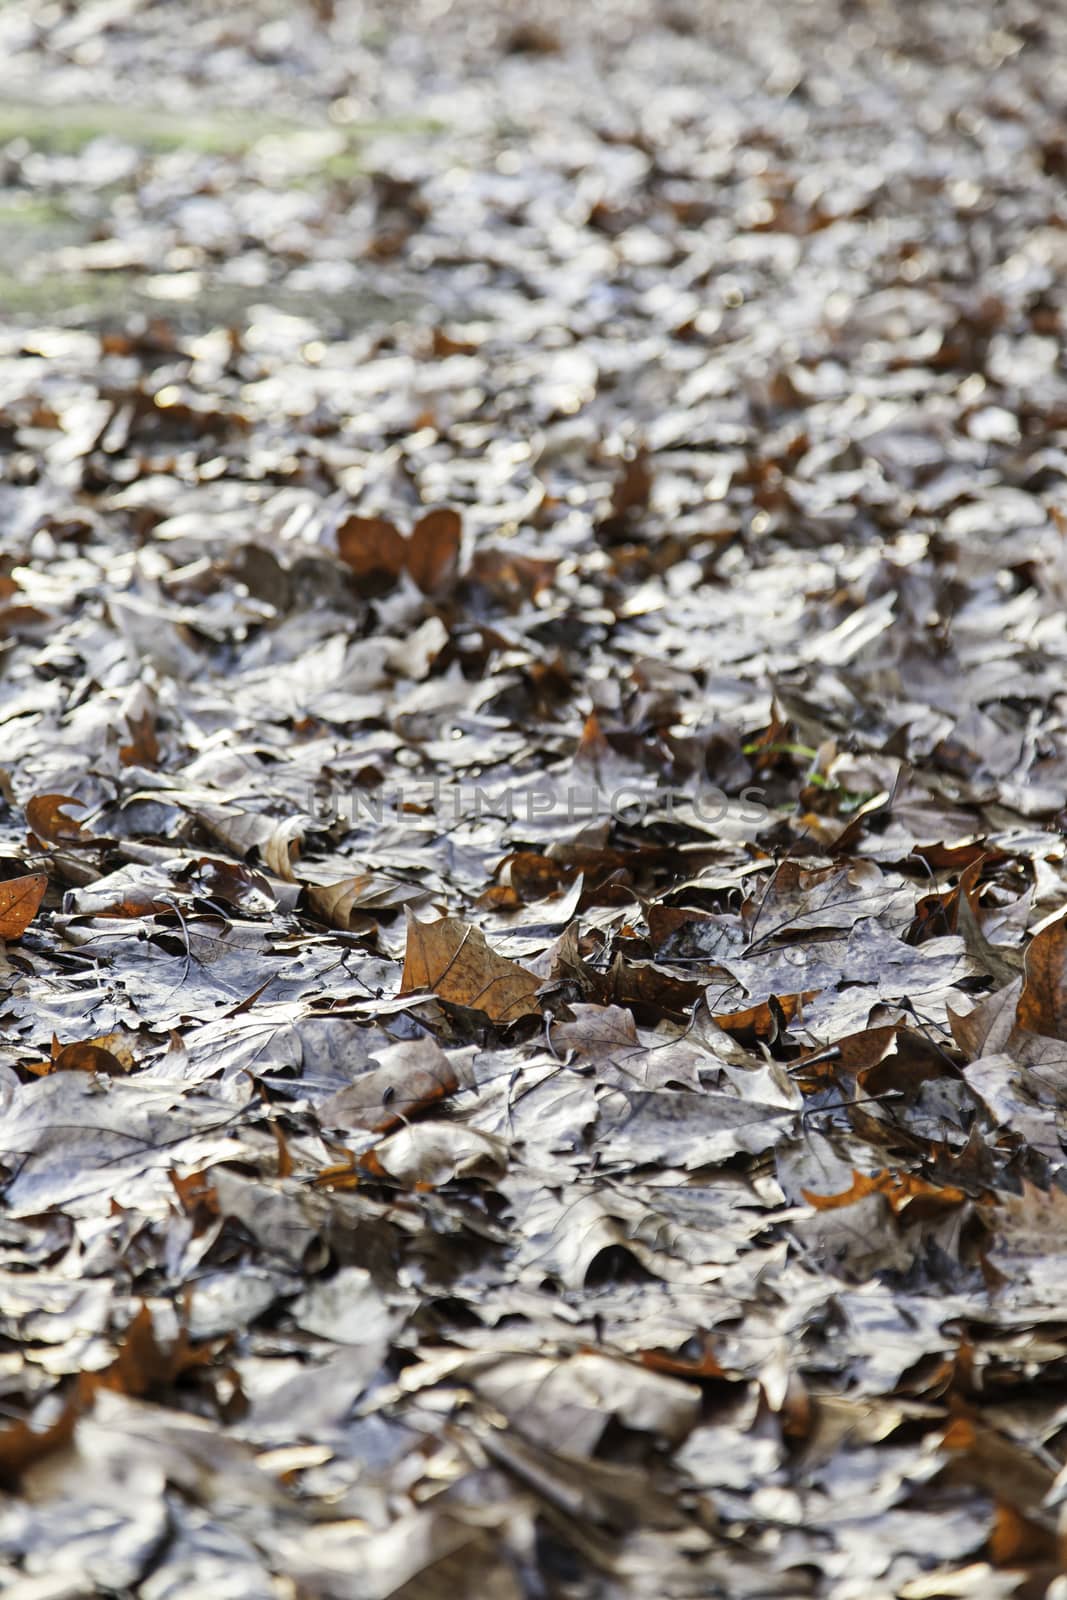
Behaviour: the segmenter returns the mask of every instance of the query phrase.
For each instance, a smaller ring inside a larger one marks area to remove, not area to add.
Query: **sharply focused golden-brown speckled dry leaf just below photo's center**
[[[539,1010],[534,974],[491,950],[485,934],[459,917],[418,922],[408,912],[400,992],[416,989],[485,1011],[493,1022],[514,1022]]]

